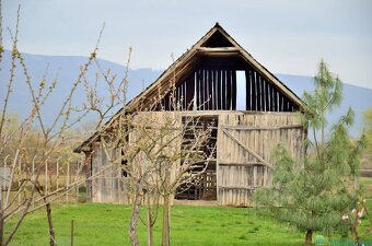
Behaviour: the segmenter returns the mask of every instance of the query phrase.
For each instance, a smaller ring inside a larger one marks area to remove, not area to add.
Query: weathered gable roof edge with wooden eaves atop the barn
[[[150,84],[138,96],[132,98],[126,105],[126,112],[148,110],[151,105],[159,99],[159,95],[165,95],[172,86],[171,81],[185,75],[190,72],[193,65],[200,56],[240,56],[242,57],[253,69],[258,71],[268,82],[275,84],[277,89],[290,98],[299,108],[304,106],[304,103],[298,97],[289,87],[287,87],[277,77],[261,66],[251,54],[248,54],[242,46],[240,46],[219,23],[209,30],[209,32],[202,36],[195,45],[191,46],[185,54],[183,54],[177,60],[175,60],[152,84]],[[118,110],[112,119],[109,119],[105,126],[109,126],[121,113],[123,108]],[[74,152],[84,151],[83,148],[90,145],[98,137],[98,132],[95,132],[91,138],[84,141],[78,147]]]

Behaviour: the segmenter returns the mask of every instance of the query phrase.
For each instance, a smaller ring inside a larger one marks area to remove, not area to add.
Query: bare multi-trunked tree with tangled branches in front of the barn
[[[164,204],[162,243],[170,245],[172,199],[177,187],[187,187],[206,171],[211,156],[202,149],[208,143],[210,130],[198,129],[198,118],[182,116],[179,102],[173,96],[174,80],[170,81],[168,89],[174,110],[166,112],[163,107],[151,109],[161,104],[161,95],[150,110],[141,107],[128,110],[126,92],[130,51],[121,82],[116,84],[114,80],[117,77],[111,75],[109,70],[100,70],[109,89],[105,98],[97,95],[96,83],[93,86],[85,83],[88,102],[84,106],[97,113],[95,136],[107,160],[105,168],[111,166],[113,172],[126,174],[121,181],[128,188],[132,206],[128,232],[132,245],[139,245],[137,224],[142,206],[147,208],[147,219],[142,222],[148,229],[148,245],[153,244],[152,226],[158,218],[159,202]],[[104,118],[119,104],[123,108],[104,124]],[[194,138],[185,140],[186,132],[193,132]]]

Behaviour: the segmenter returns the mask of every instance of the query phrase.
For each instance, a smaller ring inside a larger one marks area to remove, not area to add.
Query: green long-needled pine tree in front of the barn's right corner
[[[303,120],[313,136],[304,142],[306,154],[301,163],[293,161],[282,147],[275,150],[272,187],[255,192],[257,207],[268,207],[274,216],[306,232],[305,243],[312,243],[313,232],[347,235],[350,213],[357,197],[356,177],[364,136],[350,141],[348,127],[353,122],[351,108],[325,132],[326,113],[341,103],[342,83],[322,60],[314,78],[314,91],[305,92]]]

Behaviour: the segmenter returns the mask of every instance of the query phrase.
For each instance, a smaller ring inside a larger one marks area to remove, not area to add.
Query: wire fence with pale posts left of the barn
[[[28,185],[28,189],[22,186],[22,181],[28,178],[38,181],[39,188],[46,197],[53,195],[55,203],[85,202],[86,171],[83,160],[62,161],[62,157],[58,157],[55,161],[46,160],[39,163],[34,157],[32,162],[20,160],[14,165],[10,159],[5,157],[3,165],[0,166],[1,196],[4,198],[5,194],[10,191],[10,200],[16,200],[14,203],[20,206],[27,196],[27,191],[31,190],[31,185]],[[23,187],[22,192],[20,192],[21,187]],[[38,198],[38,196],[34,196],[33,207],[42,204],[42,200],[37,202]]]

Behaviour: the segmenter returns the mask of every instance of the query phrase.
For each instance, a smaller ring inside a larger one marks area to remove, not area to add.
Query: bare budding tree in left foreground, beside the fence
[[[58,74],[50,81],[47,81],[46,77],[44,77],[40,81],[32,79],[28,73],[25,59],[18,47],[19,23],[20,8],[18,12],[15,33],[13,34],[11,30],[8,28],[12,40],[11,69],[9,79],[5,81],[7,85],[2,85],[2,87],[5,87],[5,93],[4,98],[2,98],[3,105],[0,113],[0,159],[3,161],[5,166],[3,168],[3,179],[0,181],[0,245],[9,245],[18,229],[24,221],[24,218],[32,211],[43,207],[46,208],[47,212],[50,245],[56,245],[50,202],[81,184],[82,180],[75,179],[75,181],[69,184],[69,186],[49,191],[46,187],[40,185],[39,178],[42,175],[42,166],[48,162],[48,160],[53,157],[66,143],[66,133],[68,130],[79,122],[88,113],[84,108],[74,107],[72,104],[72,97],[78,86],[83,84],[83,78],[86,71],[96,60],[96,51],[102,31],[94,51],[89,57],[88,61],[81,67],[77,80],[72,83],[66,98],[61,102],[60,108],[57,108],[57,114],[53,122],[46,124],[45,118],[43,117],[43,108],[53,98],[55,87],[57,86]],[[2,60],[4,48],[2,46],[1,15],[0,71],[2,63],[4,62]],[[22,81],[15,80],[15,74],[18,72],[23,74]],[[28,115],[22,119],[20,124],[15,125],[12,124],[12,117],[11,114],[9,114],[14,83],[24,83],[24,87],[28,91],[31,96],[31,109]],[[38,130],[35,130],[35,126]],[[27,141],[30,141],[31,137],[35,140],[35,147],[32,151],[27,148]],[[37,163],[40,166],[36,166],[36,168],[33,168],[32,172],[22,172],[22,163],[30,164],[31,160],[33,162],[37,160]],[[9,161],[10,165],[8,165]],[[7,171],[10,171],[9,176],[5,176]],[[47,178],[47,175],[48,174],[46,174],[45,178]],[[5,235],[4,226],[11,219],[13,222],[15,221],[15,223]]]

